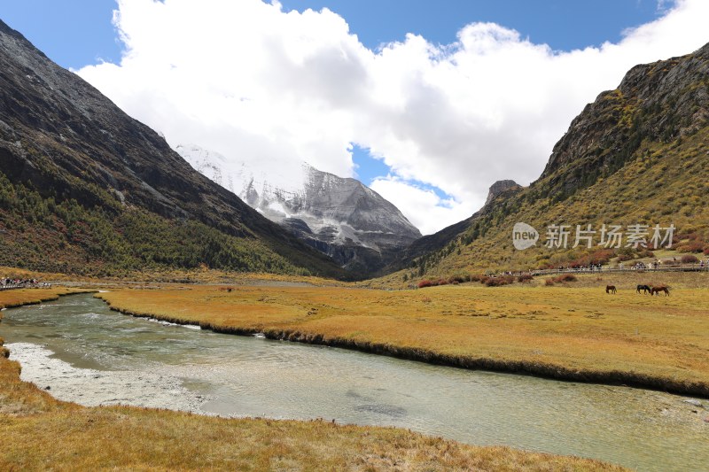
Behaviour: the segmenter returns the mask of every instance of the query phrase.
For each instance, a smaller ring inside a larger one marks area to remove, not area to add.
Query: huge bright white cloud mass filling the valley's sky
[[[538,177],[573,117],[630,67],[709,41],[709,2],[662,6],[600,48],[553,51],[474,23],[448,46],[408,35],[372,51],[328,10],[119,0],[121,64],[79,74],[173,146],[199,143],[258,170],[307,160],[351,176],[350,143],[368,147],[393,175],[373,188],[430,233],[475,212],[492,182]]]

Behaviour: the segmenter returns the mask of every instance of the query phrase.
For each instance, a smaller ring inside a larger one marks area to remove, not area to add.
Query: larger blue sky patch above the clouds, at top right
[[[339,13],[362,43],[401,41],[407,33],[434,43],[456,41],[456,32],[473,21],[491,21],[518,30],[533,43],[572,50],[618,41],[620,32],[654,19],[652,0],[283,0],[284,10]]]

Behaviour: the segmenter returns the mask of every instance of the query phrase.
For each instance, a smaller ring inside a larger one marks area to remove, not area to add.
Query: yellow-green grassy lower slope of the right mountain
[[[621,226],[660,224],[663,227],[672,223],[676,228],[675,236],[696,232],[703,241],[709,242],[709,205],[705,205],[709,192],[707,140],[709,127],[682,136],[669,145],[645,141],[617,172],[599,178],[593,185],[562,201],[555,201],[557,192],[551,192],[549,197],[541,197],[539,192],[550,190],[553,187],[550,182],[560,174],[570,172],[570,168],[549,174],[534,187],[526,187],[508,198],[505,208],[503,201],[493,205],[489,209],[491,213],[479,220],[484,236],[476,236],[474,241],[466,244],[465,236],[474,234],[472,228],[468,228],[454,237],[448,248],[427,254],[425,274],[419,275],[418,265],[391,275],[391,282],[401,282],[403,275],[409,275],[409,280],[420,280],[423,277],[448,277],[459,272],[476,274],[488,269],[517,271],[548,265],[567,266],[588,252],[573,249],[573,243],[568,249],[547,248],[543,244],[545,231],[552,223],[588,223],[596,230],[603,223]],[[579,163],[572,166],[580,169]],[[512,228],[519,221],[532,225],[541,233],[539,244],[525,251],[517,251],[512,244]],[[675,249],[677,247],[675,245]],[[596,246],[590,251],[597,249],[601,247]],[[656,255],[680,259],[682,251],[658,251]],[[635,260],[627,261],[626,265],[632,263]]]

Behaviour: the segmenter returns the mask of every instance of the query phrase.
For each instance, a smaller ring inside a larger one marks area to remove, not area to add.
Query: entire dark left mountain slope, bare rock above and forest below
[[[341,276],[0,21],[0,265]]]

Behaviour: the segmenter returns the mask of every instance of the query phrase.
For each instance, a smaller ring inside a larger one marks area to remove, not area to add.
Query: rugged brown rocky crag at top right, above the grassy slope
[[[571,193],[612,174],[643,139],[668,143],[709,119],[709,44],[681,58],[635,66],[601,93],[554,146],[540,180]]]

